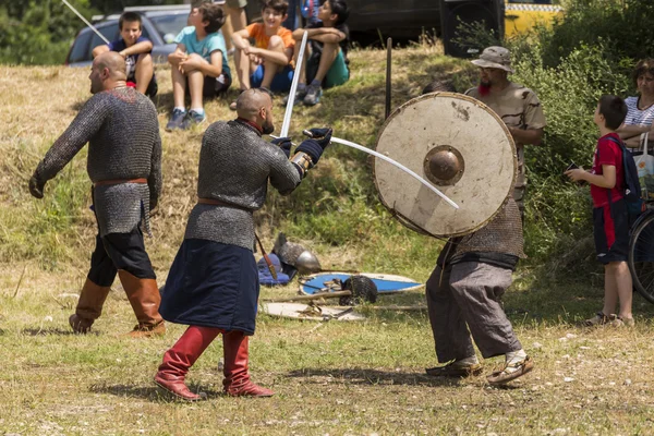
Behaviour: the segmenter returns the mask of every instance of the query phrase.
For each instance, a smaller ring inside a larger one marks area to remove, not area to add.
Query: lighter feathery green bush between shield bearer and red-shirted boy
[[[629,77],[605,56],[602,44],[580,46],[556,68],[543,62],[541,46],[522,51],[513,80],[536,90],[547,118],[542,146],[526,147],[530,178],[528,211],[528,254],[534,263],[556,257],[568,243],[590,237],[591,203],[588,186],[580,187],[562,177],[571,162],[592,165],[598,137],[593,113],[604,94],[626,96]]]

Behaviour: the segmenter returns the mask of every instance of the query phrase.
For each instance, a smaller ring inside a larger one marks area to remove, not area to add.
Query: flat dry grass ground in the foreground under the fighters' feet
[[[9,272],[2,271],[3,277]],[[507,389],[483,377],[460,383],[423,375],[435,364],[425,314],[366,312],[358,324],[259,316],[251,371],[272,399],[222,397],[220,342],[192,370],[206,391],[197,404],[170,402],[152,377],[162,352],[183,330],[164,338],[118,337],[132,325],[129,303],[112,294],[95,335],[66,328],[82,282],[28,267],[0,293],[0,431],[75,434],[652,434],[650,376],[654,329],[581,329],[517,316],[519,337],[536,370]],[[290,293],[292,289],[266,295]],[[419,303],[420,292],[397,298]],[[66,302],[70,302],[66,304]],[[386,301],[385,301],[386,302]],[[62,304],[60,304],[62,303]],[[507,301],[514,312],[514,301]],[[364,311],[365,312],[365,311]],[[497,361],[485,364],[491,372]]]

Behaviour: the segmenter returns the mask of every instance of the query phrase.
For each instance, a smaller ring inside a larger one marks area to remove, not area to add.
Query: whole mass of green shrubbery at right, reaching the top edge
[[[524,232],[529,259],[523,265],[559,267],[561,257],[581,247],[576,255],[590,262],[565,266],[580,272],[596,266],[589,187],[569,182],[562,172],[571,161],[584,168],[592,165],[598,137],[593,113],[600,97],[633,95],[630,62],[645,55],[637,49],[650,36],[642,23],[633,32],[620,26],[631,23],[634,16],[649,16],[654,7],[634,0],[626,4],[622,9],[614,1],[574,0],[566,20],[553,28],[537,27],[530,35],[505,41],[494,43],[494,36],[479,26],[460,29],[461,43],[469,46],[477,40],[477,45],[501,44],[511,50],[516,70],[511,81],[536,92],[547,118],[543,145],[525,147],[529,187]],[[641,43],[627,41],[631,36]],[[472,68],[457,74],[457,89],[472,86],[477,80],[474,73]],[[589,240],[591,243],[586,243]]]

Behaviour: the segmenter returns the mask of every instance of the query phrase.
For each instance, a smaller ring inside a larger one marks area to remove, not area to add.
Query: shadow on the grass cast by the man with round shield
[[[348,368],[302,368],[291,371],[287,377],[305,378],[304,383],[323,384],[325,378],[342,379],[352,385],[404,385],[404,386],[458,386],[459,379],[432,377],[426,374],[396,373],[378,370]],[[312,380],[312,378],[314,378]]]

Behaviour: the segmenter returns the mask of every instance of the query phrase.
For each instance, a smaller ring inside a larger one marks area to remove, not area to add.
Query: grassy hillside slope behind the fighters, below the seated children
[[[384,116],[385,51],[352,50],[352,78],[325,93],[313,108],[299,107],[291,133],[331,125],[335,135],[373,147]],[[450,75],[467,63],[439,56],[432,46],[395,51],[393,107],[420,94],[436,77]],[[89,206],[89,182],[84,149],[52,181],[46,197],[29,196],[27,181],[52,142],[89,97],[86,69],[4,66],[4,126],[0,132],[0,262],[37,263],[39,268],[65,271],[87,267],[95,234]],[[172,106],[170,73],[157,66],[159,96],[155,104],[164,126]],[[230,96],[232,97],[233,94]],[[229,101],[207,104],[209,121],[234,117]],[[284,108],[276,99],[277,129]],[[206,125],[204,129],[206,129]],[[168,133],[164,142],[164,193],[148,240],[156,270],[166,274],[181,243],[185,220],[195,202],[197,157],[203,128]],[[344,146],[332,146],[327,157],[290,197],[270,195],[256,214],[258,233],[267,246],[278,231],[314,250],[324,268],[348,268],[404,274],[425,279],[440,243],[397,223],[379,204],[370,159]],[[12,268],[13,269],[13,268]]]

